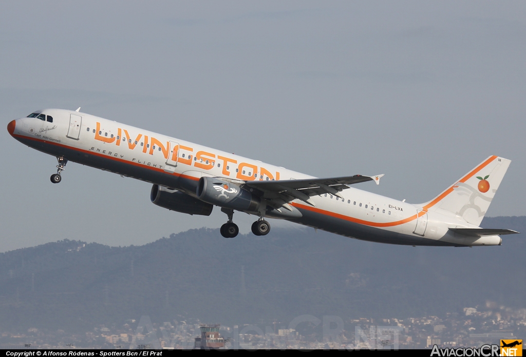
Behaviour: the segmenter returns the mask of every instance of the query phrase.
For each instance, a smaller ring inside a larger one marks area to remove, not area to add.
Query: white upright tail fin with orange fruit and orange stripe
[[[431,201],[424,211],[447,211],[479,226],[511,160],[490,156]]]

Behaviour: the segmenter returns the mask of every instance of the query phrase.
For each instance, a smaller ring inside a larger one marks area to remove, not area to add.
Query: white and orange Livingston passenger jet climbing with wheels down
[[[510,160],[489,156],[428,202],[411,204],[351,185],[382,175],[317,178],[284,167],[131,127],[77,110],[37,110],[9,122],[16,140],[57,158],[59,183],[67,162],[96,167],[153,184],[150,199],[171,211],[227,217],[220,233],[236,237],[234,212],[258,219],[256,236],[270,232],[265,218],[378,243],[411,246],[493,246],[511,229],[480,223]]]

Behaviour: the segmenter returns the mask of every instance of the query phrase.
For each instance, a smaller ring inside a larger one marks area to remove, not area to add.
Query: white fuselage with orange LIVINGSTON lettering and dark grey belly
[[[69,161],[180,190],[194,197],[195,186],[191,183],[203,176],[234,182],[313,178],[86,113],[59,109],[39,112],[53,117],[53,122],[17,119],[9,129],[13,137],[37,150],[65,156]],[[453,213],[432,211],[430,207],[352,187],[340,194],[343,200],[331,194],[312,196],[315,206],[298,199],[292,201],[290,205],[297,208],[303,218],[290,220],[382,243],[472,246],[501,242],[499,236],[459,237],[451,233],[449,228],[477,228]]]

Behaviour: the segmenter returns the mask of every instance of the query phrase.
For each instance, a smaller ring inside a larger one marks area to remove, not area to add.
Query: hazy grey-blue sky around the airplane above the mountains
[[[0,3],[5,127],[82,107],[318,177],[383,173],[356,187],[412,203],[499,155],[512,163],[488,216],[526,215],[525,63],[524,2]],[[73,162],[52,184],[56,159],[6,129],[0,150],[0,251],[142,245],[226,222]],[[234,219],[246,233],[255,217]]]

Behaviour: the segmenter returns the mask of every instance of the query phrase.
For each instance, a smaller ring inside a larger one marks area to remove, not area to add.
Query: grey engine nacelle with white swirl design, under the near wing
[[[196,195],[201,201],[236,211],[257,212],[261,202],[258,196],[236,184],[215,177],[201,177]]]

